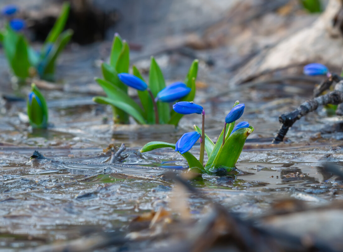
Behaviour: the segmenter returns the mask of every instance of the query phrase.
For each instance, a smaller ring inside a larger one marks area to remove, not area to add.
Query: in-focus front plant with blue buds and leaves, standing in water
[[[185,133],[176,144],[170,144],[168,142],[153,141],[143,146],[140,152],[151,151],[158,148],[170,147],[178,151],[188,162],[189,170],[196,171],[198,173],[212,174],[218,171],[230,172],[235,168],[235,164],[240,156],[241,151],[247,137],[253,132],[254,128],[249,125],[248,122],[240,122],[235,126],[235,121],[243,114],[244,104],[240,107],[235,107],[239,104],[237,101],[234,108],[225,118],[225,126],[222,133],[218,137],[217,142],[214,142],[204,133],[204,126],[200,129],[194,125],[195,131]],[[189,103],[188,105],[183,103],[176,103],[173,106],[177,113],[200,114],[202,107]],[[204,110],[201,113],[203,115],[204,122]],[[228,127],[226,127],[226,124]],[[203,124],[204,125],[204,124]],[[225,133],[224,133],[225,132]],[[203,150],[200,148],[199,160],[189,152],[192,146],[200,138],[200,146],[204,144],[204,149],[208,156],[208,161],[203,165]]]

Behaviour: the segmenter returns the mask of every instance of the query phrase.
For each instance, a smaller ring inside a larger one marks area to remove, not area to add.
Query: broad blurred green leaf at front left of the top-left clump
[[[28,77],[28,69],[30,68],[27,47],[26,39],[20,35],[15,46],[14,56],[11,59],[14,74],[22,79]]]

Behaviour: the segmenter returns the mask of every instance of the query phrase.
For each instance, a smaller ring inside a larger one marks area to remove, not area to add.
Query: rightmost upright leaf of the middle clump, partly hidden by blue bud
[[[197,59],[195,59],[192,62],[192,65],[190,66],[186,79],[185,79],[185,84],[187,85],[187,87],[191,88],[191,91],[189,92],[188,95],[186,95],[184,98],[180,99],[179,101],[192,102],[194,100],[195,92],[196,92],[195,81],[197,79],[198,64],[199,64],[199,60]],[[168,124],[174,124],[175,126],[177,126],[182,116],[184,115],[176,113],[174,110],[172,110],[170,113],[170,120]]]

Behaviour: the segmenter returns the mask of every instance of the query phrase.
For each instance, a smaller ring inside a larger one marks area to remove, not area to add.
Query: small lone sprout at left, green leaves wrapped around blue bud
[[[44,96],[35,84],[32,84],[28,94],[27,115],[33,128],[46,128],[48,126],[48,107]]]

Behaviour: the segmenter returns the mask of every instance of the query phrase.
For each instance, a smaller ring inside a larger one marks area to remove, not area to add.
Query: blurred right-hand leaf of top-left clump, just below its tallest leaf
[[[56,43],[52,47],[47,58],[42,62],[42,70],[38,71],[40,77],[45,80],[53,80],[55,73],[55,62],[58,55],[61,53],[63,48],[68,44],[69,40],[73,36],[72,30],[62,32],[58,37]]]

